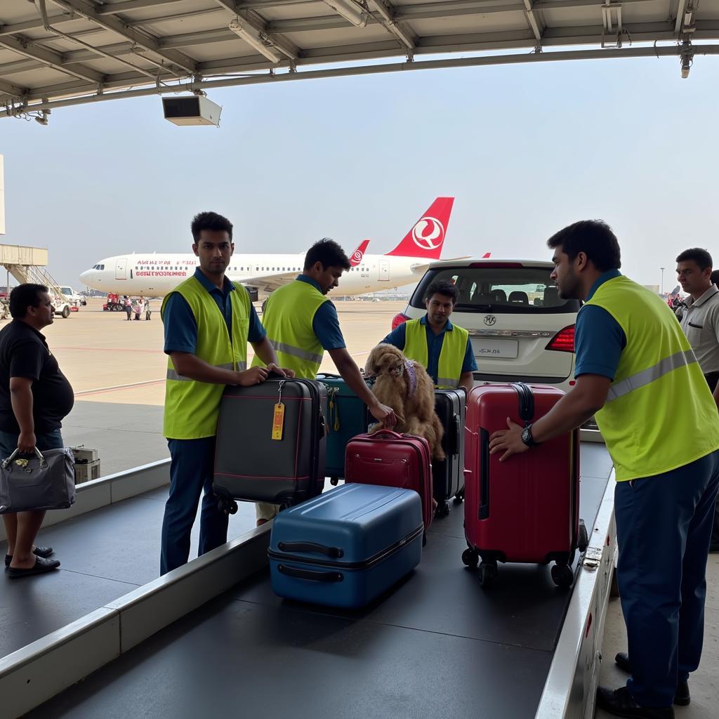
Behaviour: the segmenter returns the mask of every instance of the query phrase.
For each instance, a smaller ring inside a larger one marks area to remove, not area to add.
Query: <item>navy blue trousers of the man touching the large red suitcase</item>
[[[617,579],[632,676],[646,707],[669,707],[699,666],[719,450],[672,472],[617,482]]]

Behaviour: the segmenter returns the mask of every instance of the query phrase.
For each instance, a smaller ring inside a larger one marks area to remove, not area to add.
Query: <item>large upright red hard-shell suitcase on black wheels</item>
[[[464,426],[464,533],[469,549],[462,561],[487,585],[497,562],[557,562],[551,577],[572,584],[580,536],[579,431],[551,439],[500,462],[489,453],[490,436],[507,418],[526,426],[544,416],[564,392],[551,385],[480,385],[467,397]]]

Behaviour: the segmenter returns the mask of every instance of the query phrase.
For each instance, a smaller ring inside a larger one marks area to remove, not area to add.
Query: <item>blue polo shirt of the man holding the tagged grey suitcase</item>
[[[232,301],[229,298],[229,293],[247,292],[247,290],[236,287],[232,280],[226,277],[224,278],[222,289],[220,289],[203,275],[199,267],[195,270],[195,278],[217,303],[224,317],[229,338],[232,341]],[[191,352],[191,354],[195,354],[197,322],[187,300],[179,292],[173,292],[168,298],[162,321],[165,324],[165,354],[170,354],[170,352]],[[260,323],[260,318],[257,317],[255,307],[250,304],[247,342],[262,342],[265,334],[267,333]]]

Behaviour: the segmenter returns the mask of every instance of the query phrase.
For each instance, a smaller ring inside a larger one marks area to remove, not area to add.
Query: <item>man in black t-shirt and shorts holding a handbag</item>
[[[63,446],[60,426],[75,401],[73,388],[40,330],[54,308],[44,285],[19,285],[10,293],[12,322],[0,330],[0,458]],[[47,559],[52,547],[35,546],[44,511],[4,514],[10,577],[27,577],[60,566]]]

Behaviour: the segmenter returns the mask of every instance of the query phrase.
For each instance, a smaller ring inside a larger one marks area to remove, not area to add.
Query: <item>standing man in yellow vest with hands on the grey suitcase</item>
[[[225,277],[234,252],[232,223],[214,212],[192,221],[199,267],[165,297],[164,433],[170,447],[170,497],[162,521],[160,574],[185,564],[204,489],[198,555],[227,541],[227,516],[212,493],[215,434],[224,385],[256,385],[278,370],[247,290]],[[247,342],[267,362],[247,370]]]

